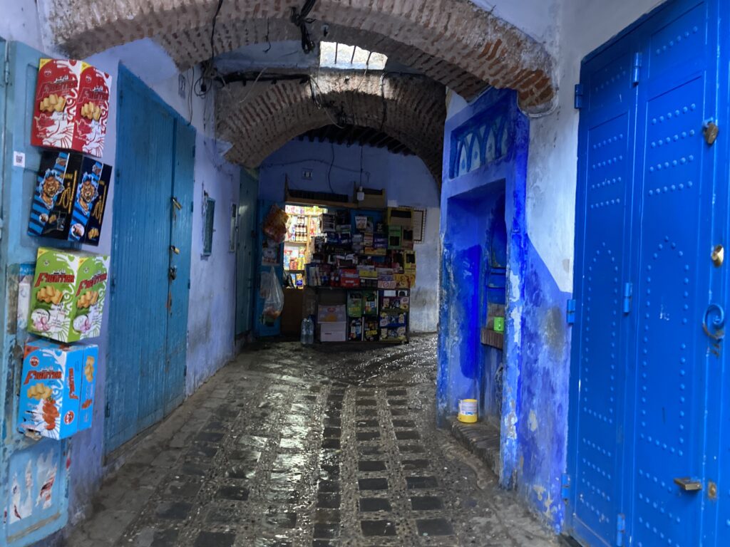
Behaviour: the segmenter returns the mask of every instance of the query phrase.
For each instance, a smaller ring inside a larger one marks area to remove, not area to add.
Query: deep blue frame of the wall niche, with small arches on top
[[[504,211],[509,261],[501,408],[492,419],[501,431],[500,481],[509,487],[518,469],[529,124],[512,92],[492,90],[447,120],[445,141],[437,419],[446,424],[462,398],[477,398],[485,408],[485,391],[495,389],[496,370],[491,370],[490,350],[480,344],[480,329],[488,319],[481,309],[487,289],[488,211],[496,208]]]

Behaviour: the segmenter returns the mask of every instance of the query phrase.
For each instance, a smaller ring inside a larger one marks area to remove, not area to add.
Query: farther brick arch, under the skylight
[[[372,74],[346,79],[323,73],[312,87],[299,81],[230,85],[218,93],[220,139],[233,147],[226,158],[256,167],[301,133],[331,123],[382,131],[423,160],[441,183],[445,88],[424,77],[383,78]]]

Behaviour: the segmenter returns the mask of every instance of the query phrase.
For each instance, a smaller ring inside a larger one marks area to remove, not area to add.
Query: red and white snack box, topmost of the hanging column
[[[41,59],[31,144],[101,157],[112,77],[73,59]]]

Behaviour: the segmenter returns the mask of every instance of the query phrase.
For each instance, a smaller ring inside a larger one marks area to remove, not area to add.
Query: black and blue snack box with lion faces
[[[28,234],[98,245],[112,166],[75,152],[41,157]]]

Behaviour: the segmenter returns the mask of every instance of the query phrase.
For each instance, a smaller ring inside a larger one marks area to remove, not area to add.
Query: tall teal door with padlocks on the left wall
[[[183,397],[195,142],[137,77],[118,79],[107,452]]]

